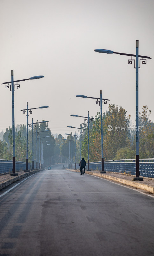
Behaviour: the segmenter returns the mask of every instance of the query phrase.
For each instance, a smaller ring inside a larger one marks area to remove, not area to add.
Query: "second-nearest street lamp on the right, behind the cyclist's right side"
[[[99,103],[99,106],[101,107],[101,171],[100,173],[106,173],[104,171],[104,156],[103,156],[103,121],[102,121],[102,105],[107,103],[107,99],[102,99],[102,91],[100,90],[100,98],[94,98],[94,97],[88,97],[85,95],[76,95],[76,97],[80,98],[91,98],[91,99],[97,99],[96,104]]]

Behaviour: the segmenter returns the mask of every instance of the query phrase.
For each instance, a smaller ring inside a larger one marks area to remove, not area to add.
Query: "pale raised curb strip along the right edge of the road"
[[[67,170],[73,171],[73,172],[80,172],[79,170],[72,170],[72,169],[67,169]],[[120,179],[120,178],[117,178],[117,177],[109,176],[109,175],[106,175],[106,174],[103,174],[103,173],[97,173],[97,172],[92,172],[92,171],[90,171],[90,172],[86,171],[86,173],[88,173],[90,175],[102,177],[102,178],[108,179],[108,180],[114,180],[114,181],[117,181],[119,183],[131,186],[131,187],[140,188],[140,189],[146,190],[146,191],[154,194],[154,187],[142,184],[142,183],[140,183],[138,181],[136,182],[136,181],[131,181],[131,180],[124,180],[124,179]]]

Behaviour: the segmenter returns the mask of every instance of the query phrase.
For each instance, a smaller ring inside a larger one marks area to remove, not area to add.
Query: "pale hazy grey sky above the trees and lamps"
[[[15,91],[15,124],[26,124],[26,108],[36,109],[29,123],[49,120],[52,133],[70,133],[100,111],[93,99],[102,97],[122,106],[135,120],[136,73],[128,56],[100,54],[94,49],[150,56],[139,69],[139,111],[151,110],[154,121],[153,0],[0,0],[0,84],[20,82]],[[11,92],[1,85],[0,130],[12,125]],[[103,112],[108,104],[103,107]],[[111,124],[112,125],[112,124]],[[117,124],[119,125],[119,124]]]

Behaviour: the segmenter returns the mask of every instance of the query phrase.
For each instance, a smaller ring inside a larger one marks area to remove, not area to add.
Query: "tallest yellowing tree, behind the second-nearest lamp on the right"
[[[128,129],[130,116],[126,117],[126,110],[114,104],[109,105],[108,111],[103,113],[103,154],[104,160],[115,158],[119,148],[129,147],[130,131]],[[108,125],[113,130],[108,131]],[[82,142],[82,156],[88,156],[88,134]],[[101,161],[101,115],[98,112],[89,132],[89,161]]]

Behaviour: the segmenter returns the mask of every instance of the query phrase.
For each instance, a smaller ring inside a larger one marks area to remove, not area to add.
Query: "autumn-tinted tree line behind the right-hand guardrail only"
[[[130,115],[121,106],[109,105],[103,113],[103,153],[104,160],[135,159],[136,126],[130,122]],[[139,113],[139,156],[154,158],[154,124],[150,120],[151,111],[143,106]],[[82,156],[88,159],[88,128],[83,133]],[[108,126],[109,127],[108,129]],[[112,129],[110,129],[112,128]],[[89,161],[101,161],[101,115],[98,112],[89,132]]]

